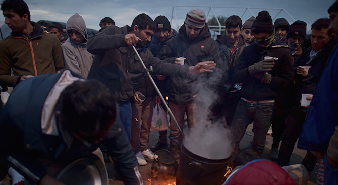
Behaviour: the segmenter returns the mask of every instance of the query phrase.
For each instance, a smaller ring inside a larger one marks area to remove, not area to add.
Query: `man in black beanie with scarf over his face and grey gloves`
[[[235,144],[233,155],[236,155],[245,130],[253,121],[252,148],[261,156],[271,124],[274,99],[280,90],[293,83],[293,70],[291,54],[287,45],[275,36],[267,11],[259,12],[251,30],[255,36],[254,45],[244,48],[230,76],[232,83],[243,82],[231,130]]]

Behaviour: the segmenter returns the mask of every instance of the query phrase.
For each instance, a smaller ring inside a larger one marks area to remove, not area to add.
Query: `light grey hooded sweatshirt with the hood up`
[[[87,78],[93,63],[93,55],[87,51],[88,34],[83,18],[77,13],[71,16],[66,23],[66,30],[68,36],[70,30],[76,30],[84,39],[82,43],[74,44],[71,38],[68,38],[62,45],[65,67]]]

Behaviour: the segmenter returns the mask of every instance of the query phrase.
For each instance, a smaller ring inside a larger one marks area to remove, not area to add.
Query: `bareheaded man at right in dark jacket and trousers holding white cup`
[[[317,83],[333,50],[335,42],[332,30],[328,29],[329,25],[330,20],[328,18],[320,18],[311,25],[312,46],[305,49],[294,63],[295,85],[291,99],[293,102],[292,110],[286,118],[287,125],[277,161],[281,166],[289,165],[292,151],[308,112],[308,107],[301,106],[302,94],[314,94]],[[304,74],[304,67],[310,67],[307,75]],[[313,170],[316,163],[317,158],[310,152],[307,153],[302,162],[309,172]]]

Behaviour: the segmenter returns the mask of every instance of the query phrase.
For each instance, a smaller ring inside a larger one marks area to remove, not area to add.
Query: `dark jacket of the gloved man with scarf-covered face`
[[[264,60],[264,56],[275,58],[275,65],[269,71],[272,75],[269,84],[261,83],[260,79],[255,78],[248,71],[249,66]],[[288,46],[277,39],[263,54],[258,51],[255,45],[244,48],[230,79],[232,83],[243,82],[239,91],[243,98],[252,101],[275,99],[278,92],[293,83],[294,80],[292,57]]]

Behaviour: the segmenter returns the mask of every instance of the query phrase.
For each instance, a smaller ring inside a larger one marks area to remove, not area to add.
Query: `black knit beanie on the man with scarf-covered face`
[[[274,26],[271,16],[267,11],[264,10],[258,13],[255,22],[252,24],[251,31],[254,33],[273,33]]]

